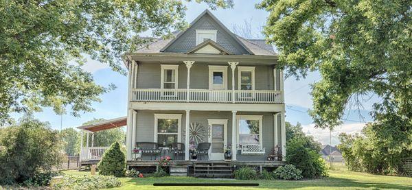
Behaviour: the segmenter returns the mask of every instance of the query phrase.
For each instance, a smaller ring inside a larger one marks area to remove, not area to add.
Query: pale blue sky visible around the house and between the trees
[[[251,29],[254,34],[258,33],[260,26],[264,25],[268,12],[264,10],[256,10],[255,3],[258,1],[235,1],[235,6],[230,10],[214,10],[212,13],[220,19],[229,29],[233,28],[233,24],[242,24],[245,20],[252,21]],[[187,22],[192,22],[198,14],[201,14],[207,5],[198,3],[187,3],[187,12],[185,19]],[[60,129],[60,121],[62,121],[62,128],[73,128],[81,126],[82,123],[93,118],[111,119],[115,117],[122,117],[126,115],[127,106],[127,77],[112,71],[107,65],[100,62],[89,60],[86,65],[82,67],[84,70],[93,73],[93,78],[97,84],[108,86],[108,84],[115,84],[117,88],[109,93],[101,95],[102,102],[94,102],[93,108],[95,112],[87,112],[81,117],[72,117],[71,115],[56,115],[50,108],[45,108],[43,112],[36,113],[36,117],[41,121],[49,121],[52,128]],[[328,130],[319,130],[313,128],[312,119],[306,114],[306,111],[311,108],[312,101],[310,99],[309,84],[319,80],[321,77],[319,73],[310,73],[304,80],[296,81],[295,78],[288,78],[284,82],[285,102],[286,102],[286,121],[290,123],[300,122],[304,126],[304,131],[312,134],[316,139],[322,143],[328,143]],[[371,103],[376,99],[365,103],[365,110],[361,110],[365,121],[371,121],[368,115],[368,110],[371,109]],[[62,118],[62,120],[60,120]],[[358,114],[354,111],[350,112],[347,119],[354,121],[345,121],[340,129],[332,132],[335,136],[332,144],[337,143],[336,136],[339,132],[358,132],[363,123],[359,121]]]

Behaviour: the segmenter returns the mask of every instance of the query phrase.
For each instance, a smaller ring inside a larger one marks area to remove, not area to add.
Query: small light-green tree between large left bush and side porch
[[[66,128],[60,131],[60,138],[64,142],[63,150],[68,155],[75,155],[79,153],[79,134],[73,128]]]

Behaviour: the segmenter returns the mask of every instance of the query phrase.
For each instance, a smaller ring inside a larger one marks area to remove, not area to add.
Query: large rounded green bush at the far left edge
[[[30,115],[17,125],[0,128],[0,145],[0,185],[44,185],[48,180],[41,175],[62,161],[58,132]]]

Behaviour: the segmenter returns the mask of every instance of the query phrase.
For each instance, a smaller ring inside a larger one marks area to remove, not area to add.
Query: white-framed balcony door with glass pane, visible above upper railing
[[[209,89],[227,89],[227,66],[209,65]]]

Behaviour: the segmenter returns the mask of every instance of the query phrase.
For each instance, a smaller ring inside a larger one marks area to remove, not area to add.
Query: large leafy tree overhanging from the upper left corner
[[[190,0],[189,0],[190,1]],[[230,8],[231,0],[196,0],[211,9]],[[171,36],[182,29],[185,5],[155,1],[0,0],[0,121],[10,112],[41,111],[45,106],[71,115],[92,111],[91,102],[113,89],[83,71],[85,56],[125,73],[121,55],[148,43],[139,34]],[[76,64],[73,64],[73,62]]]

